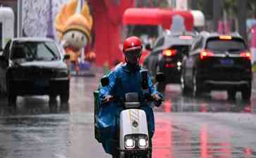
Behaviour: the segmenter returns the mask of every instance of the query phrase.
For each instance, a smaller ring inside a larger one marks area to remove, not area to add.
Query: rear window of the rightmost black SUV
[[[207,41],[207,49],[210,51],[239,53],[246,49],[246,46],[242,40],[221,40],[221,39],[209,39]]]

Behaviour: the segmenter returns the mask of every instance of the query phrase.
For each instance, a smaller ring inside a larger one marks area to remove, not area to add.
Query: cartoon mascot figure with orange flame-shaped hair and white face
[[[78,74],[78,58],[82,49],[90,43],[92,16],[86,2],[80,13],[75,13],[77,6],[78,0],[71,0],[65,4],[56,16],[55,27],[66,53],[70,55],[70,64],[75,65]]]

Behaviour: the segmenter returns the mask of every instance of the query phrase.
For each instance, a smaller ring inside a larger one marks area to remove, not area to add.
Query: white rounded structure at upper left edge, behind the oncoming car
[[[0,6],[0,49],[13,38],[14,13],[10,7]]]

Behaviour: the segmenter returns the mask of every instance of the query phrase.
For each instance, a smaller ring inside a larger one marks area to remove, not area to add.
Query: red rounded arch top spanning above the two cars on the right
[[[125,25],[161,25],[169,29],[174,15],[181,15],[185,20],[185,28],[193,29],[193,15],[190,11],[174,11],[161,8],[128,8],[123,14]]]

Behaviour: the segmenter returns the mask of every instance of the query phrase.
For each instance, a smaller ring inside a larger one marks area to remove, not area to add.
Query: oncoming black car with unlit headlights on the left
[[[69,99],[69,72],[51,39],[17,38],[8,41],[0,56],[0,89],[8,95],[9,105],[17,96],[49,95],[50,102],[60,95]]]

